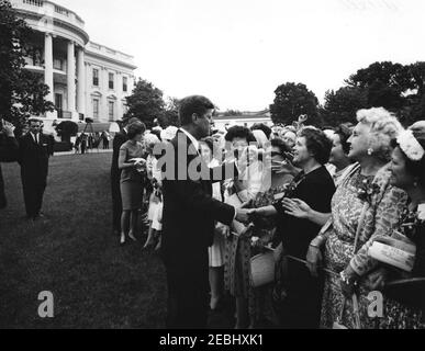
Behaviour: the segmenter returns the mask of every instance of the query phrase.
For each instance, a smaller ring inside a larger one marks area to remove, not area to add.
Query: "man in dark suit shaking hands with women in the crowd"
[[[168,328],[206,327],[208,247],[213,241],[214,222],[228,225],[233,219],[247,220],[246,210],[212,197],[211,174],[235,176],[235,165],[210,171],[198,152],[198,140],[210,134],[213,111],[214,105],[204,97],[181,100],[181,128],[166,150],[161,258],[167,271]]]

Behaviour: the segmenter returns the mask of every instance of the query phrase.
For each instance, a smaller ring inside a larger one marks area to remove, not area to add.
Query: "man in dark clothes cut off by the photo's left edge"
[[[13,162],[18,159],[18,140],[13,134],[13,126],[3,120],[0,121],[0,162]],[[7,206],[3,173],[0,165],[0,210]]]

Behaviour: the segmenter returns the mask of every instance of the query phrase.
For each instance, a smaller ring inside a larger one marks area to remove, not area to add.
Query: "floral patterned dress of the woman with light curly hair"
[[[334,272],[326,273],[323,294],[321,327],[332,328],[343,309],[344,296],[340,291],[339,272],[348,264],[360,275],[366,275],[378,262],[368,256],[368,249],[377,235],[390,235],[399,225],[400,214],[405,207],[406,194],[389,184],[390,172],[382,168],[374,179],[360,174],[358,163],[347,168],[332,200],[332,226],[325,233],[327,237],[324,251],[324,268]],[[360,196],[359,189],[368,184],[372,189],[365,197]],[[359,223],[364,207],[365,216]],[[357,227],[361,226],[357,253],[354,254]],[[361,282],[360,282],[361,283]],[[359,314],[361,328],[374,328],[374,320],[367,314],[370,302],[367,298],[369,291],[360,284]],[[342,322],[355,327],[353,304],[347,301]]]

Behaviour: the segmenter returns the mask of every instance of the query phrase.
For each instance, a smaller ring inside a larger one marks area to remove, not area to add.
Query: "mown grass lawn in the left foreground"
[[[164,327],[159,258],[111,233],[110,162],[111,154],[53,157],[46,218],[35,223],[23,218],[19,166],[2,163],[0,328]],[[38,317],[41,291],[54,294],[54,318]]]

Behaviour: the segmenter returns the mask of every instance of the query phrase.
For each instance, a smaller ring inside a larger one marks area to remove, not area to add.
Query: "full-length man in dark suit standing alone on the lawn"
[[[26,216],[37,219],[41,216],[43,195],[47,184],[48,158],[52,154],[51,139],[40,133],[42,122],[29,121],[30,131],[20,138],[18,161],[21,165],[21,179]]]

